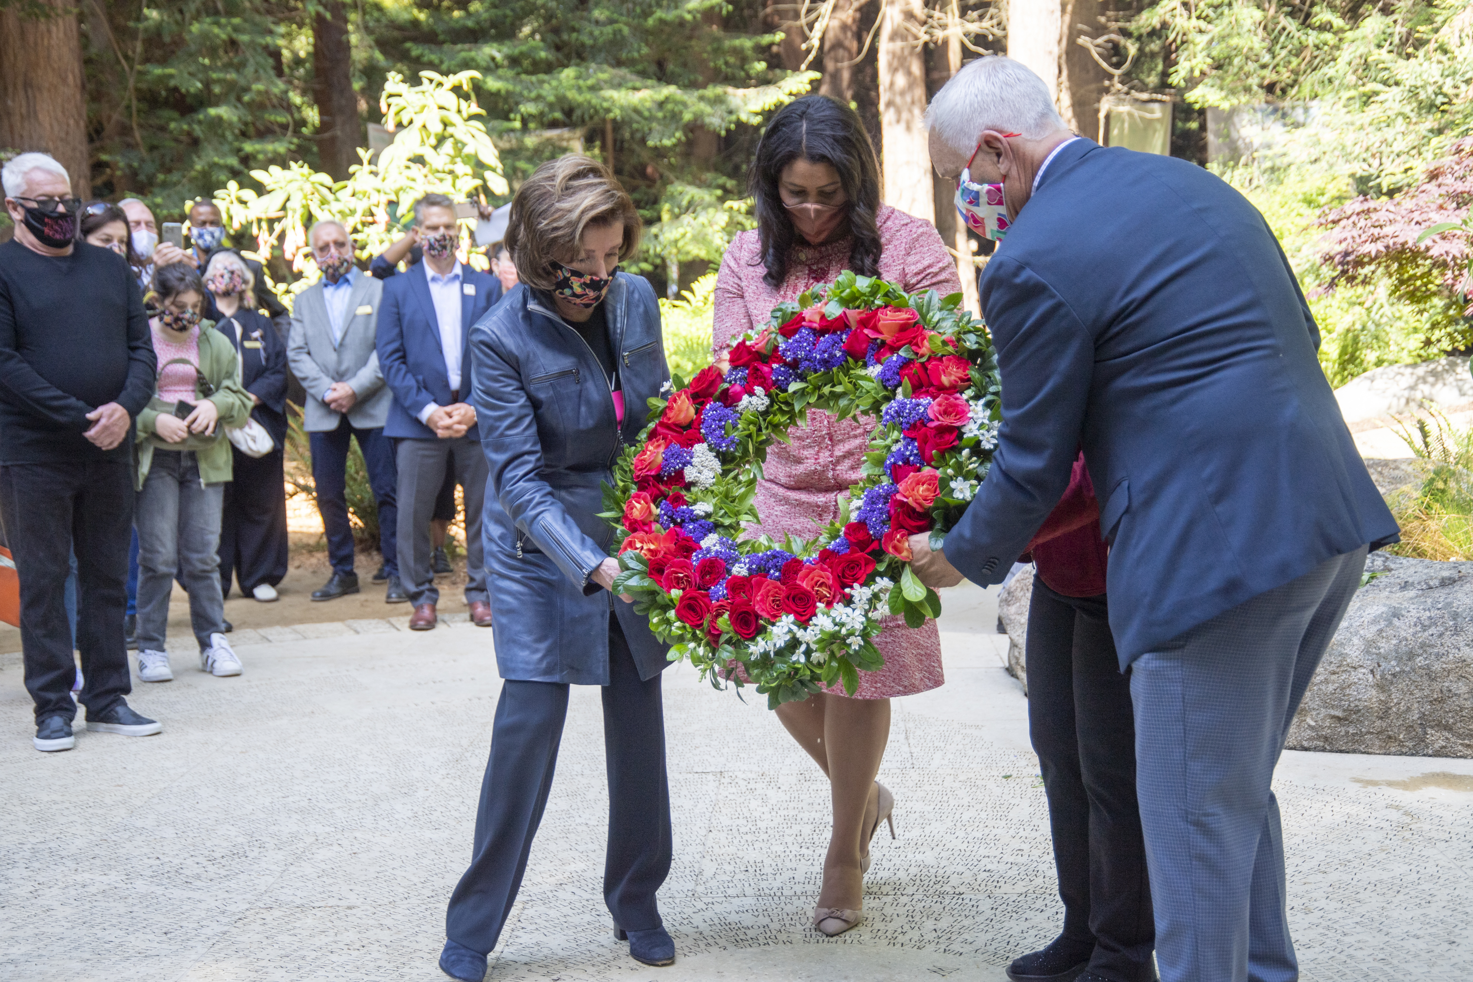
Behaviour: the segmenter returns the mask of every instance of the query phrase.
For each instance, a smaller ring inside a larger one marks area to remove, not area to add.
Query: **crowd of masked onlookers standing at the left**
[[[162,729],[124,699],[127,651],[137,649],[141,680],[174,677],[175,582],[200,668],[240,674],[224,598],[234,584],[275,601],[287,573],[289,396],[331,564],[312,599],[361,589],[346,495],[356,440],[384,601],[411,604],[414,630],[436,626],[458,486],[465,602],[474,624],[491,624],[486,459],[461,370],[471,324],[517,271],[499,244],[488,249],[491,274],[460,262],[455,202],[420,199],[370,272],[348,228],[318,221],[308,247],[321,278],[287,311],[259,261],[228,244],[211,202],[161,239],[138,199],[74,199],[47,155],[13,158],[3,184],[15,237],[0,244],[0,526],[21,582],[38,749],[72,746],[74,698],[90,730]]]

